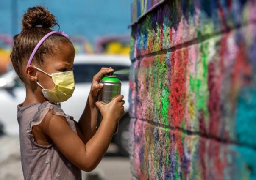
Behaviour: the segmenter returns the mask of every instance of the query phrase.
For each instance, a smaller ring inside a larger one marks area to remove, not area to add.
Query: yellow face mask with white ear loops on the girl
[[[35,66],[34,66],[35,67]],[[35,67],[37,70],[51,76],[55,84],[53,90],[48,90],[42,87],[39,82],[36,83],[42,88],[42,93],[45,98],[51,102],[64,102],[67,101],[75,90],[75,79],[73,71],[59,72],[48,74],[45,71]]]

